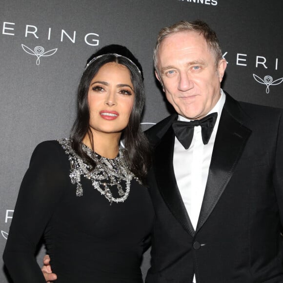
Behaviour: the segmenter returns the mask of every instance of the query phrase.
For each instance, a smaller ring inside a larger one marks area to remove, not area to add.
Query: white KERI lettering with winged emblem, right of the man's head
[[[225,56],[228,54],[228,52],[225,52],[222,56],[222,58],[225,58]],[[230,61],[230,60],[229,60]],[[227,64],[229,63],[226,60]],[[252,59],[247,54],[237,53],[236,55],[236,65],[237,66],[248,66],[248,64],[255,63],[256,68],[263,68],[263,69],[274,69],[275,71],[278,70],[279,66],[279,60],[278,58],[275,58],[275,61],[267,61],[266,57],[263,56],[255,56],[252,57]],[[276,78],[274,79],[271,75],[265,75],[262,78],[257,74],[252,74],[255,81],[259,82],[260,84],[265,85],[265,92],[269,93],[269,87],[273,85],[279,85],[283,82],[283,78]]]

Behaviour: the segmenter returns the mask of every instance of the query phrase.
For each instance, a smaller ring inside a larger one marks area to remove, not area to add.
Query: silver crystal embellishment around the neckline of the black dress
[[[99,156],[89,147],[82,144],[82,150],[96,163],[92,170],[91,165],[86,164],[82,158],[72,149],[70,139],[57,140],[71,163],[70,178],[72,184],[77,184],[76,195],[81,197],[83,189],[81,186],[81,176],[92,181],[92,185],[103,195],[110,204],[112,202],[124,202],[130,193],[130,183],[135,179],[141,181],[130,171],[123,156],[123,150],[119,149],[119,154],[114,159]],[[124,190],[123,190],[124,186]],[[116,188],[115,188],[116,187]],[[119,197],[113,197],[112,190],[117,189]]]

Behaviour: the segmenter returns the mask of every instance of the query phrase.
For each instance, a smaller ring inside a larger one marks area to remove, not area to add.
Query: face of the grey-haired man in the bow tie
[[[157,62],[156,77],[177,113],[191,120],[206,116],[220,98],[226,61],[216,66],[204,38],[184,31],[162,41]]]

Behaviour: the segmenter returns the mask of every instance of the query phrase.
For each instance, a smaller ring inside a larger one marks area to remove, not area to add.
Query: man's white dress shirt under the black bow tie
[[[188,149],[185,149],[178,139],[175,138],[173,156],[174,173],[183,203],[195,230],[199,220],[213,145],[224,103],[225,94],[221,89],[219,101],[208,113],[217,112],[217,120],[207,144],[204,145],[202,142],[201,126],[194,127],[193,140]],[[181,115],[178,116],[178,120],[191,121]],[[193,282],[196,283],[195,276]]]

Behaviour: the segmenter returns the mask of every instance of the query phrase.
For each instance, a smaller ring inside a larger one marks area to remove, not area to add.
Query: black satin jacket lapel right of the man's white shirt
[[[231,179],[251,130],[242,123],[238,102],[226,94],[197,225],[200,230]],[[245,117],[246,119],[246,117]]]

